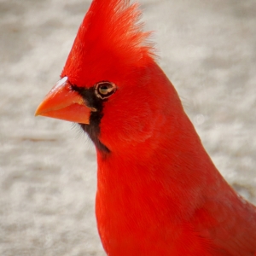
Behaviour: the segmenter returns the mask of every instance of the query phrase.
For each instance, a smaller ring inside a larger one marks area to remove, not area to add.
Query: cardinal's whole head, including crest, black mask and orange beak
[[[147,141],[176,93],[154,61],[140,15],[129,0],[94,0],[36,115],[79,123],[105,153]]]

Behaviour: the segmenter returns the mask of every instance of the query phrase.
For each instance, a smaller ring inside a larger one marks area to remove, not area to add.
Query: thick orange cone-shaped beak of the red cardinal
[[[89,124],[91,111],[96,109],[87,107],[84,98],[77,91],[72,90],[67,77],[64,77],[45,96],[35,115]]]

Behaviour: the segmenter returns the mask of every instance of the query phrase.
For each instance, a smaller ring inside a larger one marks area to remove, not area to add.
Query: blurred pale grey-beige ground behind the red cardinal
[[[141,0],[143,20],[212,160],[256,203],[255,0]],[[93,145],[33,116],[89,0],[0,0],[0,255],[105,255]]]

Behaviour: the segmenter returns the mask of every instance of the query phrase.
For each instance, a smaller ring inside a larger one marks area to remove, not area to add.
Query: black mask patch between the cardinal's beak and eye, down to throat
[[[99,140],[99,135],[101,132],[101,120],[103,116],[103,102],[107,102],[108,99],[102,100],[98,98],[95,94],[95,88],[91,87],[89,89],[87,88],[81,88],[76,85],[72,85],[73,90],[77,91],[79,95],[83,96],[84,102],[86,103],[86,106],[89,108],[95,108],[95,112],[90,113],[90,124],[79,124],[82,129],[89,135],[90,139],[93,143],[95,143],[96,148],[98,148],[100,151],[102,151],[105,154],[109,154],[110,150],[101,143]]]

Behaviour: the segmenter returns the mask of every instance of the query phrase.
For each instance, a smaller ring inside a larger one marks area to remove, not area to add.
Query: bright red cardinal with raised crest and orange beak
[[[154,61],[129,0],[93,0],[36,115],[96,145],[96,220],[110,256],[253,256],[256,208],[224,180]]]

